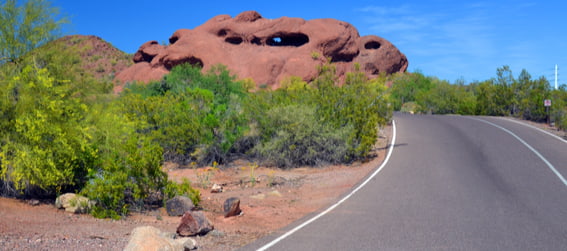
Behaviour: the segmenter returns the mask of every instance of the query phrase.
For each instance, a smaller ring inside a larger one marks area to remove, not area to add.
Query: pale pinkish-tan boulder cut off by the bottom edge
[[[173,239],[175,234],[162,232],[152,226],[137,227],[132,230],[125,251],[142,250],[192,250],[196,248],[191,238]]]

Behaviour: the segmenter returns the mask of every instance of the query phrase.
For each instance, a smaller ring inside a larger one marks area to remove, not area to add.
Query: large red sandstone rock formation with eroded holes
[[[326,58],[337,66],[339,76],[352,71],[354,63],[371,78],[408,67],[405,55],[387,40],[360,37],[352,25],[335,19],[264,19],[247,11],[235,18],[216,16],[193,30],[180,29],[169,42],[169,46],[156,41],[143,44],[134,55],[136,64],[116,79],[148,82],[181,63],[198,64],[203,70],[223,64],[239,78],[276,89],[289,76],[313,80]]]

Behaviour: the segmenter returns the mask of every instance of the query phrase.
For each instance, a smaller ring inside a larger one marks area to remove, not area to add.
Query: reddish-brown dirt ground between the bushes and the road
[[[381,130],[375,158],[351,165],[281,170],[236,161],[218,168],[164,168],[171,179],[187,178],[201,191],[200,207],[215,230],[195,237],[198,250],[234,250],[335,202],[381,164],[390,138],[391,127]],[[224,191],[211,193],[213,184]],[[230,197],[240,199],[243,214],[224,218],[222,205]],[[32,206],[7,198],[0,198],[0,219],[0,250],[122,250],[135,227],[175,232],[180,221],[163,208],[108,220],[66,213],[53,202]]]

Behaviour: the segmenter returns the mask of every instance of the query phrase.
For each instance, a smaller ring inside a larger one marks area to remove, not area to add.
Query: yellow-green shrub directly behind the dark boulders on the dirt
[[[161,170],[163,150],[149,135],[141,133],[146,122],[122,114],[123,103],[98,107],[90,128],[97,159],[89,167],[81,193],[96,202],[93,215],[117,218],[130,210],[141,210],[147,199],[159,194],[164,199],[176,194],[199,194],[190,184],[175,184]]]

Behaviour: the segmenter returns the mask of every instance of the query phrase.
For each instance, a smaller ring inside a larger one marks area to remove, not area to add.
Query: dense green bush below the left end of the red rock
[[[165,150],[166,160],[225,163],[241,153],[235,143],[247,130],[242,102],[250,82],[239,82],[223,66],[203,74],[198,67],[176,66],[161,81],[133,85],[126,95],[131,117],[142,117],[145,130]]]

